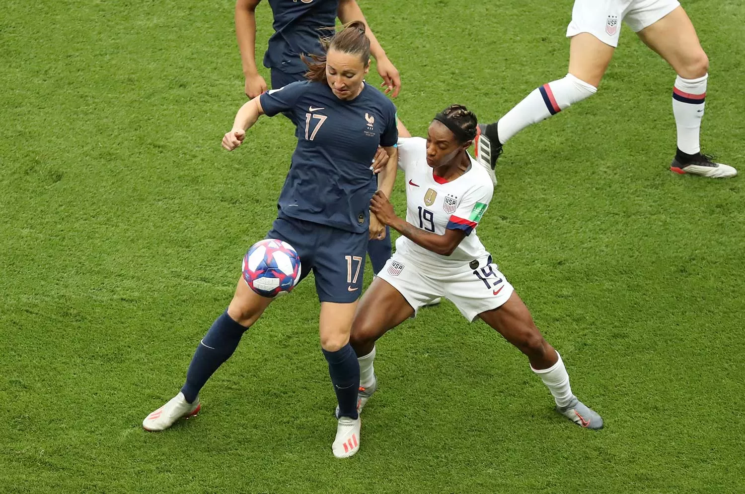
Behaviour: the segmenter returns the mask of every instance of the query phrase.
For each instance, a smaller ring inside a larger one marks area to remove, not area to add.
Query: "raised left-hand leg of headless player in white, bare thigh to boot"
[[[501,154],[502,144],[513,135],[595,94],[614,50],[590,33],[573,36],[569,48],[569,73],[562,79],[534,89],[497,123],[479,126],[478,158],[489,161],[493,168]],[[485,142],[481,141],[482,136],[486,136],[488,142],[488,158],[484,157],[487,153],[483,153]]]

